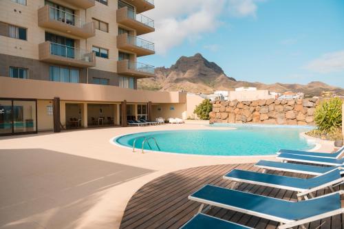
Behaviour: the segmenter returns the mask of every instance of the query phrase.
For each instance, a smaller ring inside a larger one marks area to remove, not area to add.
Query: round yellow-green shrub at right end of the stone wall
[[[315,109],[314,122],[323,133],[336,133],[342,125],[342,104],[340,98],[324,100]]]

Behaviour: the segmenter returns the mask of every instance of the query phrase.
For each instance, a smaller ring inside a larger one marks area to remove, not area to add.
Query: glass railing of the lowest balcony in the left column
[[[86,50],[80,50],[76,47],[70,47],[52,42],[50,42],[50,54],[55,56],[63,56],[65,58],[72,58],[78,61],[93,61],[92,52],[87,52]]]

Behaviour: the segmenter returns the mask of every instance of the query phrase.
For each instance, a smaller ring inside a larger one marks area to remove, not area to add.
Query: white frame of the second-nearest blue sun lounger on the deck
[[[237,190],[237,192],[244,193],[244,192],[239,191],[239,190]],[[344,194],[344,190],[340,190],[337,193],[339,193],[340,195],[343,195]],[[327,195],[333,195],[333,194],[334,193],[330,193],[330,194],[327,194]],[[252,194],[252,195],[257,195],[257,194]],[[323,195],[321,197],[325,197],[327,195]],[[276,199],[276,198],[273,198],[273,197],[267,197],[267,198]],[[315,197],[314,199],[316,199],[316,198],[320,198],[320,197]],[[319,219],[325,219],[327,217],[332,217],[334,215],[339,215],[339,214],[343,214],[344,213],[344,208],[341,208],[341,209],[337,209],[337,210],[332,210],[331,212],[325,212],[323,214],[316,215],[316,216],[313,216],[313,217],[308,217],[308,218],[305,218],[305,219],[300,219],[300,220],[294,221],[294,220],[290,220],[290,219],[284,219],[284,218],[281,218],[281,217],[275,217],[275,216],[272,216],[272,215],[266,215],[266,214],[263,214],[263,213],[260,213],[260,212],[255,212],[255,211],[252,211],[252,210],[246,210],[246,209],[243,209],[243,208],[237,208],[237,207],[229,206],[229,205],[226,205],[226,204],[219,204],[217,202],[208,201],[208,200],[200,199],[200,198],[197,198],[197,197],[189,196],[189,199],[202,203],[198,212],[202,212],[204,204],[209,204],[211,206],[216,206],[216,207],[219,207],[219,208],[225,208],[225,209],[228,209],[228,210],[234,210],[234,211],[241,212],[241,213],[244,213],[244,214],[253,215],[253,216],[264,218],[264,219],[269,219],[269,220],[272,220],[272,221],[277,221],[277,222],[281,223],[281,225],[278,227],[279,229],[292,228],[294,226],[301,226],[301,228],[306,229],[305,226],[303,226],[303,224],[305,224],[305,223],[309,223],[309,222],[316,221],[316,220],[319,220]],[[288,200],[284,200],[284,199],[280,199],[280,200],[281,201],[288,201]]]

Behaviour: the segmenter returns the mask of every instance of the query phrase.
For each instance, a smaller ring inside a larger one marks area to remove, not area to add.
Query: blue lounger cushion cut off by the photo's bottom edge
[[[251,229],[224,219],[198,213],[180,229]]]

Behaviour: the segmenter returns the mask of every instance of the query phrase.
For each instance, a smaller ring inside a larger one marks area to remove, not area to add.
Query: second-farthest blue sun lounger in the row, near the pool
[[[328,166],[342,166],[344,163],[344,158],[342,159],[335,159],[329,157],[311,157],[305,155],[296,155],[296,154],[289,154],[289,153],[281,153],[277,156],[277,158],[281,159],[282,161],[287,162],[304,162],[310,164],[320,164],[320,165],[328,165]]]

